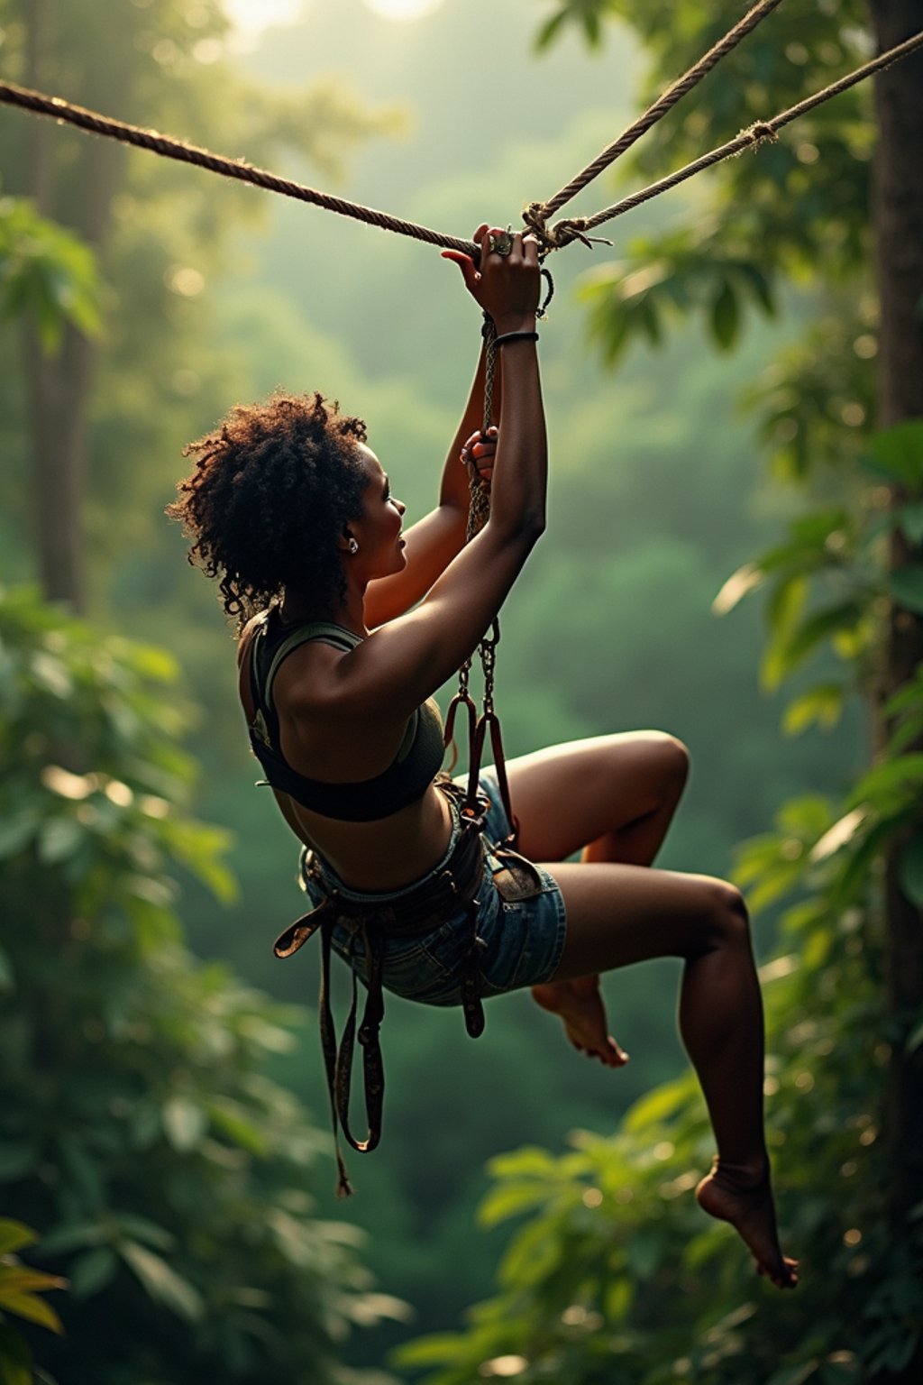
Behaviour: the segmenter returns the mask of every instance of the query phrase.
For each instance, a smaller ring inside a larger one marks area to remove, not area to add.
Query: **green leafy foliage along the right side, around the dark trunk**
[[[599,43],[613,14],[642,33],[653,90],[704,51],[736,7],[714,6],[703,21],[692,3],[638,11],[619,0],[559,0],[538,42],[574,25]],[[703,83],[685,115],[663,122],[632,172],[661,173],[667,152],[668,166],[684,162],[732,134],[728,122],[792,104],[868,48],[861,6],[783,7]],[[923,611],[923,568],[913,560],[895,568],[890,542],[897,535],[919,551],[923,422],[870,427],[869,102],[869,90],[854,91],[790,140],[726,165],[689,227],[630,242],[620,265],[583,288],[610,364],[638,341],[661,345],[682,319],[699,320],[728,350],[753,309],[776,313],[790,302],[793,281],[814,309],[801,341],[747,392],[774,475],[797,488],[800,512],[715,601],[726,612],[765,590],[767,690],[823,668],[787,706],[790,735],[836,724],[857,695],[881,731],[872,765],[846,792],[786,802],[774,831],[742,843],[733,870],[757,915],[785,904],[779,950],[762,968],[765,1090],[783,1244],[801,1256],[801,1284],[790,1296],[750,1287],[732,1234],[703,1227],[689,1192],[711,1141],[688,1075],[642,1098],[612,1138],[578,1133],[569,1154],[526,1147],[493,1162],[482,1222],[519,1224],[498,1292],[470,1310],[468,1331],[400,1353],[426,1385],[475,1375],[602,1385],[613,1371],[639,1385],[915,1378],[923,1204],[895,1224],[894,1147],[883,1126],[888,1068],[919,1060],[923,1011],[886,1006],[886,970],[901,961],[886,958],[884,860],[894,856],[899,891],[919,911],[919,668],[881,702],[890,614]]]

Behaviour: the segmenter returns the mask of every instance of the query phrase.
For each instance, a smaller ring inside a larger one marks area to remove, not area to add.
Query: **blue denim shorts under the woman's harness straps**
[[[464,783],[464,781],[459,781]],[[548,871],[537,867],[542,889],[534,899],[505,903],[494,889],[491,873],[501,868],[491,850],[494,842],[502,841],[509,832],[506,813],[502,806],[497,774],[493,767],[480,776],[480,789],[490,799],[484,825],[486,863],[484,877],[477,891],[477,935],[486,947],[479,953],[480,994],[501,996],[508,990],[536,986],[549,981],[565,950],[567,922],[565,900],[556,881]],[[422,879],[436,875],[458,841],[461,831],[458,807],[450,801],[453,812],[453,832],[446,856]],[[389,893],[365,895],[347,889],[333,871],[321,861],[321,874],[328,885],[336,888],[346,899],[382,902],[400,900],[414,885]],[[311,889],[310,881],[300,873],[302,889],[316,904],[321,902],[320,892]],[[419,1000],[426,1006],[461,1004],[461,970],[470,950],[470,918],[465,910],[450,915],[428,933],[414,938],[387,938],[383,956],[383,985],[386,990],[407,1000]],[[365,949],[357,927],[335,924],[331,936],[333,951],[353,968],[360,981],[367,981]]]

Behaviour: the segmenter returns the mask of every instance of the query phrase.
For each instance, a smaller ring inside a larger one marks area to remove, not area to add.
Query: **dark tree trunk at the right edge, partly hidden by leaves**
[[[888,48],[920,30],[919,0],[869,0],[876,37]],[[876,78],[879,147],[872,184],[880,323],[880,424],[923,420],[923,57],[915,54]],[[895,501],[904,499],[895,496]],[[923,550],[902,533],[891,542],[891,568],[923,562]],[[923,659],[923,618],[893,607],[887,632],[886,698]],[[887,730],[881,727],[881,730]],[[922,749],[923,747],[911,747]],[[916,835],[923,831],[923,821]],[[923,918],[899,886],[908,831],[894,843],[886,870],[886,1003],[895,1035],[923,1011]],[[894,1043],[884,1102],[888,1198],[894,1230],[905,1231],[923,1190],[923,1047],[908,1054]],[[883,1379],[923,1379],[923,1348],[906,1367]]]

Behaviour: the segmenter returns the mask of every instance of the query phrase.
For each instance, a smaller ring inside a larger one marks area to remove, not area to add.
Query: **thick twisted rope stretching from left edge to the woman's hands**
[[[444,245],[447,249],[462,251],[477,259],[477,247],[473,241],[462,241],[455,235],[443,235],[441,231],[430,231],[417,222],[405,222],[387,212],[376,212],[361,202],[349,202],[342,197],[331,197],[329,193],[318,193],[313,187],[293,183],[289,179],[277,177],[266,169],[253,168],[242,159],[227,159],[209,150],[202,150],[195,144],[174,140],[170,136],[159,134],[156,130],[143,130],[137,125],[126,125],[123,120],[112,120],[97,111],[87,111],[82,105],[72,105],[61,97],[48,97],[42,91],[30,91],[28,87],[17,86],[12,82],[0,82],[0,102],[18,105],[36,115],[48,115],[58,123],[76,125],[80,130],[91,134],[102,134],[109,140],[119,140],[122,144],[131,144],[140,150],[151,150],[166,159],[179,159],[181,163],[194,163],[197,168],[209,169],[223,177],[237,179],[239,183],[252,183],[268,193],[281,193],[282,197],[293,197],[300,202],[311,202],[322,206],[328,212],[339,216],[351,216],[353,220],[367,222],[382,231],[396,231],[399,235],[411,235],[418,241],[428,241],[430,245]]]

